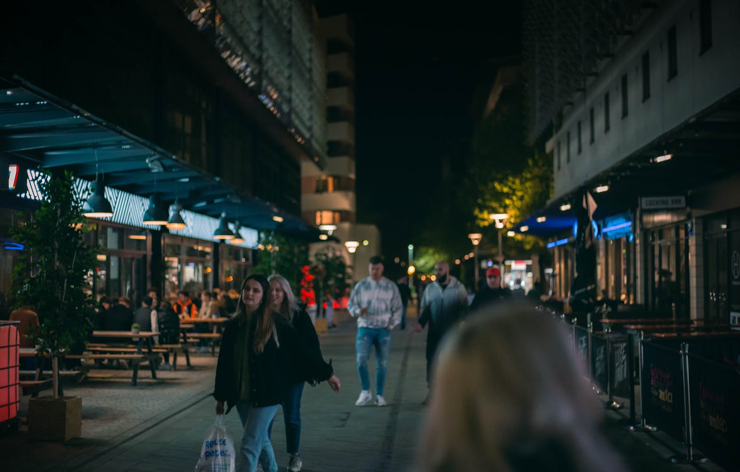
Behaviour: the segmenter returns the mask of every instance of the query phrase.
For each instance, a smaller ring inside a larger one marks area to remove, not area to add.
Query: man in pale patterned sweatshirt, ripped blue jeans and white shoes
[[[370,277],[355,284],[349,295],[347,310],[357,318],[357,373],[362,391],[355,405],[367,405],[372,400],[368,360],[375,346],[375,405],[386,406],[383,387],[386,384],[388,353],[391,351],[391,331],[401,321],[401,295],[392,280],[383,277],[383,260],[370,258]]]

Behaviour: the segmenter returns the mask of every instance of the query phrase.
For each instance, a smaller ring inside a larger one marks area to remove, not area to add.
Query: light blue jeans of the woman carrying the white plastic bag
[[[244,428],[241,437],[242,472],[257,471],[258,460],[265,472],[277,472],[275,452],[272,451],[267,428],[275,417],[278,406],[280,405],[257,408],[251,402],[237,402],[236,411],[239,412]]]

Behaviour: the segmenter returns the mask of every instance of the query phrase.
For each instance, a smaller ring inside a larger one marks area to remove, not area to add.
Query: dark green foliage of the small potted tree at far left
[[[58,357],[90,331],[92,298],[87,279],[94,274],[95,250],[84,242],[86,195],[75,189],[70,172],[41,178],[44,200],[24,226],[10,235],[26,248],[13,270],[15,306],[33,306],[40,326],[30,326],[30,338],[41,353]]]

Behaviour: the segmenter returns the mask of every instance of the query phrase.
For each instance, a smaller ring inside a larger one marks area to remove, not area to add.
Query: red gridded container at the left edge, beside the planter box
[[[19,321],[0,321],[0,425],[18,424]]]

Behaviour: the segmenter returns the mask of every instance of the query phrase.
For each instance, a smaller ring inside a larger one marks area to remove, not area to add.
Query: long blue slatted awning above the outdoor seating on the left
[[[23,79],[0,79],[0,155],[38,169],[64,168],[92,181],[101,172],[108,188],[218,218],[222,213],[249,228],[318,240],[320,230],[295,215],[166,149],[34,87]],[[275,218],[277,217],[277,218]],[[276,221],[280,220],[282,221]]]

